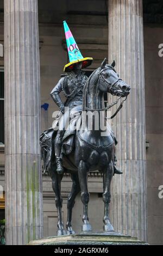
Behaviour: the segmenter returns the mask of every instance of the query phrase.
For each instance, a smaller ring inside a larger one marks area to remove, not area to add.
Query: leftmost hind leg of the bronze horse
[[[66,235],[64,230],[64,223],[62,222],[62,197],[61,197],[61,180],[63,175],[58,174],[57,172],[53,173],[52,177],[52,188],[55,193],[55,205],[58,210],[58,232],[57,235]]]

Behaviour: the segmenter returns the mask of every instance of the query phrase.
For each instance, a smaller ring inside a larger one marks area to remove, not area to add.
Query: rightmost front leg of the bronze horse
[[[113,173],[114,173],[114,167],[111,161],[109,166],[104,169],[104,173],[103,173],[103,191],[104,191],[103,202],[105,205],[104,218],[103,218],[104,231],[114,231],[114,227],[112,227],[110,223],[110,218],[109,218],[109,204],[110,204],[110,198],[111,198],[110,185],[111,185]]]

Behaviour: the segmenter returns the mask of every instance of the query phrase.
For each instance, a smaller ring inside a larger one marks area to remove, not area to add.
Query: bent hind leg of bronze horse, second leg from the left
[[[74,231],[72,230],[72,225],[71,225],[72,208],[75,204],[75,198],[77,194],[80,192],[78,173],[72,174],[71,179],[72,179],[72,189],[67,199],[67,223],[66,223],[67,235],[74,234]]]

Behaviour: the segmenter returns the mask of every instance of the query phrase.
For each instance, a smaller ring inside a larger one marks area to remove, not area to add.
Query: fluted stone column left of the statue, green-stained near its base
[[[37,0],[4,0],[7,245],[42,237]]]

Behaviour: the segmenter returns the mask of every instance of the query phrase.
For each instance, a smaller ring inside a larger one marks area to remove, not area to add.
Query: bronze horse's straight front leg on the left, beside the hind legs
[[[89,217],[87,215],[87,204],[90,200],[90,194],[87,190],[87,167],[84,161],[80,161],[78,166],[79,182],[81,188],[81,199],[83,203],[83,228],[82,231],[92,231],[92,227],[89,223]]]

